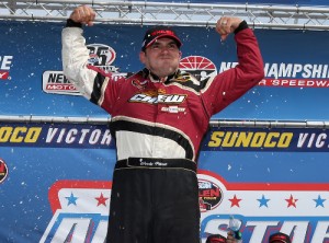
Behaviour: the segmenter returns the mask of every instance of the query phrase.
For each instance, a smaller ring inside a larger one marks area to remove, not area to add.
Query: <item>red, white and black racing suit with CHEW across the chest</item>
[[[200,241],[201,141],[212,115],[263,78],[256,36],[246,22],[241,26],[235,34],[239,65],[204,81],[181,70],[166,79],[147,69],[128,78],[105,73],[88,65],[82,28],[63,30],[65,76],[112,117],[117,163],[109,242]]]

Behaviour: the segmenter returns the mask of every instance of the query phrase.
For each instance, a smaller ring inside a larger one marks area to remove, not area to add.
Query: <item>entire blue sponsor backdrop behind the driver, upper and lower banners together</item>
[[[0,22],[0,242],[103,242],[111,220],[116,152],[110,116],[63,74],[63,26]],[[89,62],[115,76],[138,71],[146,28],[84,27]],[[211,27],[174,28],[183,42],[180,68],[201,81],[237,65],[232,36],[220,42]],[[226,234],[235,216],[242,220],[243,242],[265,243],[276,231],[295,243],[327,242],[328,32],[254,32],[265,78],[212,118],[240,126],[211,126],[201,146],[202,241]],[[296,126],[243,126],[250,120]]]

